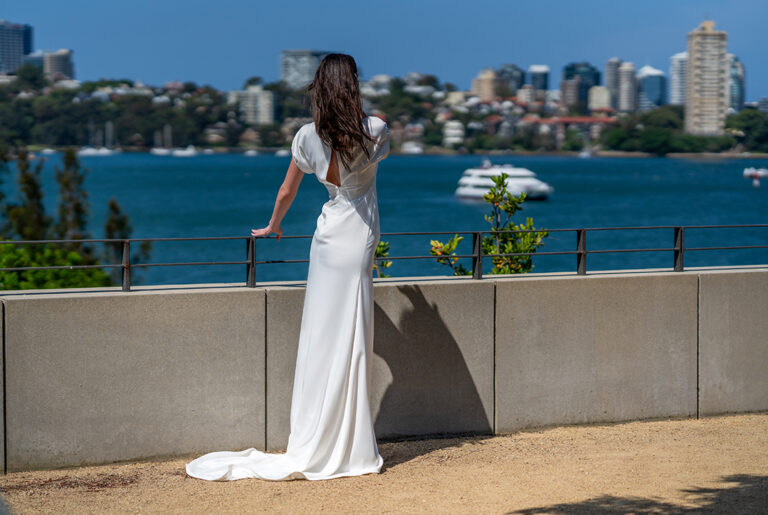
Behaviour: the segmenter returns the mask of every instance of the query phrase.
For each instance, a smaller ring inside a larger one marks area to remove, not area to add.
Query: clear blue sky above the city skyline
[[[193,80],[239,88],[279,78],[280,50],[352,54],[363,76],[433,73],[467,89],[502,63],[601,71],[618,56],[665,72],[686,33],[709,17],[745,63],[747,100],[768,96],[766,0],[6,0],[0,18],[35,27],[37,49],[71,48],[81,80]]]

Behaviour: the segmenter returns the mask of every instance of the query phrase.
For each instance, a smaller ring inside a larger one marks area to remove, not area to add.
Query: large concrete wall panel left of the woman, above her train
[[[264,293],[5,298],[9,471],[264,445]]]

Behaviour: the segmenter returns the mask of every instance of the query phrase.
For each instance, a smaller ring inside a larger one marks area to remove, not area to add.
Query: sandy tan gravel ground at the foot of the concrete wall
[[[382,442],[381,474],[206,482],[186,460],[12,473],[13,513],[766,513],[768,413]]]

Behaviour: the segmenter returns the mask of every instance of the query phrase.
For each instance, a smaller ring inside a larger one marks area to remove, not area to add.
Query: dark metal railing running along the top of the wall
[[[547,255],[576,255],[576,274],[586,275],[587,273],[587,255],[620,253],[620,252],[672,252],[673,270],[682,272],[685,270],[685,253],[704,250],[736,250],[736,249],[765,249],[767,245],[736,245],[721,247],[685,247],[685,232],[691,229],[733,229],[733,228],[768,228],[768,224],[748,224],[748,225],[654,225],[638,227],[590,227],[577,229],[527,229],[527,230],[508,230],[508,231],[435,231],[435,232],[387,232],[381,233],[381,237],[389,236],[425,236],[425,235],[471,235],[472,254],[451,254],[453,258],[472,259],[472,276],[474,279],[483,278],[483,259],[511,257],[511,256],[547,256]],[[594,249],[587,248],[588,231],[620,231],[620,230],[652,230],[652,229],[672,229],[672,246],[661,248],[626,248],[626,249]],[[482,241],[484,235],[493,235],[498,233],[555,233],[555,232],[574,232],[576,233],[575,250],[562,251],[535,251],[535,252],[516,252],[516,253],[483,253]],[[55,266],[29,266],[29,267],[6,267],[0,268],[0,272],[17,272],[23,270],[54,270],[54,269],[78,269],[78,268],[121,268],[122,269],[122,289],[131,290],[131,270],[139,267],[153,266],[207,266],[207,265],[245,265],[246,280],[245,285],[249,288],[256,287],[256,266],[276,263],[308,263],[309,259],[256,259],[256,240],[274,239],[274,236],[212,236],[196,238],[128,238],[128,239],[82,239],[82,240],[6,240],[0,241],[2,244],[28,245],[28,244],[71,244],[71,243],[111,243],[120,244],[121,262],[119,264],[94,264],[94,265],[55,265]],[[307,239],[312,235],[301,236],[282,236],[282,239]],[[768,235],[767,235],[768,241]],[[245,259],[240,261],[186,261],[176,263],[131,263],[131,244],[134,242],[156,242],[156,241],[210,241],[210,240],[245,240],[246,252]],[[377,261],[392,261],[400,259],[438,259],[437,256],[419,255],[419,256],[387,256],[378,258]]]

